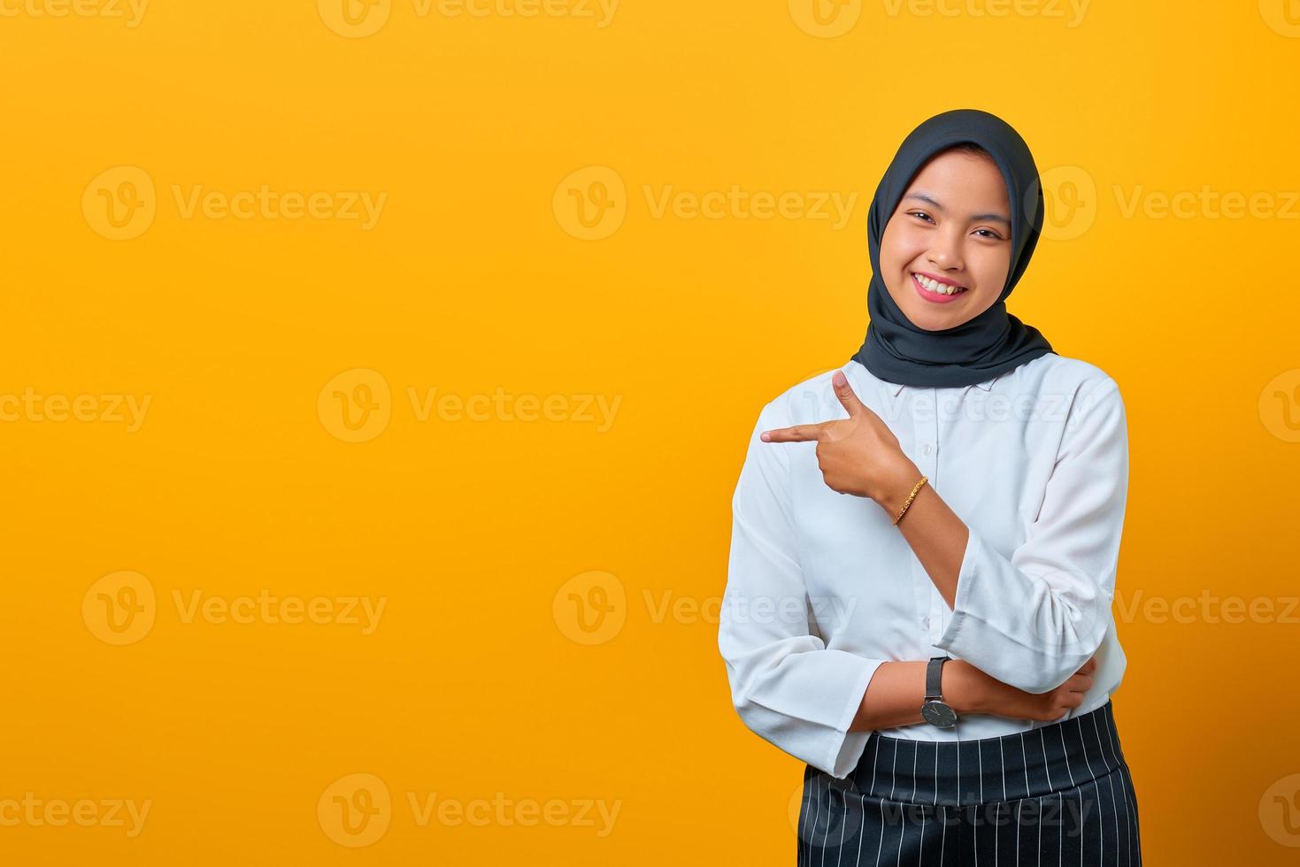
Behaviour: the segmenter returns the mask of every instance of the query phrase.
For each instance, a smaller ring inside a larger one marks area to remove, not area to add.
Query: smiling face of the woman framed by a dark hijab
[[[997,302],[1010,269],[1011,208],[997,165],[979,153],[935,156],[880,239],[880,278],[898,309],[927,331],[956,328]],[[935,292],[931,279],[958,291]]]

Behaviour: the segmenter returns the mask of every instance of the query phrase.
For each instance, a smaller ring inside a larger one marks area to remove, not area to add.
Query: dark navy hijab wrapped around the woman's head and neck
[[[997,302],[975,318],[927,331],[894,303],[880,279],[880,238],[916,173],[940,151],[974,142],[988,151],[1006,181],[1011,204],[1011,268]],[[867,338],[853,360],[880,380],[914,386],[965,386],[1053,352],[1036,328],[1006,312],[1006,296],[1030,264],[1043,231],[1043,185],[1028,144],[1006,121],[978,109],[956,109],[930,118],[904,139],[885,170],[867,214],[871,282],[867,286]]]

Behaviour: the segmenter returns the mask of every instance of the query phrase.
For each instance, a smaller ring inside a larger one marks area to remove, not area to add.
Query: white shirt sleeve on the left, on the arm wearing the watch
[[[790,450],[759,439],[790,425],[779,400],[759,413],[732,498],[732,541],[718,629],[732,703],[745,725],[789,755],[837,779],[857,766],[870,732],[849,732],[884,659],[829,650],[827,624],[798,563],[790,506]]]

